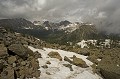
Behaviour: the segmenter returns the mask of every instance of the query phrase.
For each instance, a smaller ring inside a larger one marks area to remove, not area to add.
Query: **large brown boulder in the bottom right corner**
[[[120,79],[120,66],[114,62],[112,57],[103,58],[99,62],[98,68],[105,79]]]

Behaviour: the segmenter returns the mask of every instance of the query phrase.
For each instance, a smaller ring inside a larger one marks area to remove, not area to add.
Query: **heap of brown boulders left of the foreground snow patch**
[[[27,47],[35,47],[37,43],[40,40],[0,28],[0,79],[38,78],[41,54]]]

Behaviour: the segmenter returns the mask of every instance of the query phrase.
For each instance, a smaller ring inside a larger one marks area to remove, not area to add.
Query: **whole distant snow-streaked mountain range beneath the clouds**
[[[23,19],[1,19],[0,26],[15,32],[33,35],[50,43],[66,44],[67,42],[79,42],[82,39],[120,39],[119,34],[107,35],[99,32],[91,23],[71,23],[67,20],[59,23],[50,21],[34,21],[33,23]]]

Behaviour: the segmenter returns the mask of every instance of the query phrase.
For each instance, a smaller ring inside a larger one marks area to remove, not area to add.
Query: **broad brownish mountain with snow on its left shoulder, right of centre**
[[[82,39],[97,39],[98,31],[95,25],[73,23],[49,34],[47,41],[66,44],[67,42],[78,42]]]

